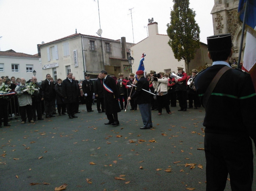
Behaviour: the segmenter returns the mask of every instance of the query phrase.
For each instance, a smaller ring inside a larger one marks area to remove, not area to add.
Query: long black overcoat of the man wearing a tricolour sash
[[[111,93],[107,91],[106,88],[104,88],[104,103],[106,115],[121,112],[118,103],[119,94],[115,80],[108,75],[104,83],[108,88],[110,88],[113,91],[113,93]]]

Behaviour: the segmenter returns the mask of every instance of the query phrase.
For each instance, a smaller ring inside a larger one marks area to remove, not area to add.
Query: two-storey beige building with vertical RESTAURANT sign
[[[64,80],[67,72],[72,72],[76,80],[82,80],[85,74],[97,78],[102,70],[116,77],[120,72],[128,75],[127,50],[131,44],[126,46],[125,37],[121,42],[80,33],[40,44],[43,76],[50,74],[54,80]]]

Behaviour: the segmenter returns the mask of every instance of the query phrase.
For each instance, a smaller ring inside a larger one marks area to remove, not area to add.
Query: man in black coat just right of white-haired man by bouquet
[[[41,87],[43,91],[43,101],[45,102],[45,117],[55,117],[53,115],[53,89],[54,85],[50,81],[51,76],[50,74],[46,74],[46,79],[45,81],[42,82]]]

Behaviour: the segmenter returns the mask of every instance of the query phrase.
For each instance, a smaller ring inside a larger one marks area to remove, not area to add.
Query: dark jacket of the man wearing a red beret
[[[136,98],[137,104],[150,103],[150,94],[144,91],[149,91],[149,81],[144,76],[142,76],[136,83],[136,86],[137,88],[131,96],[131,99]]]

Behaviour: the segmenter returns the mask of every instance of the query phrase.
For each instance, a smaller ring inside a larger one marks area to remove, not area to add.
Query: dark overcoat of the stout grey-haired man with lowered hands
[[[80,95],[80,89],[75,80],[66,78],[62,81],[62,94],[64,96],[64,103],[75,103]]]

